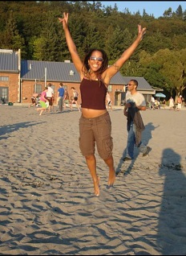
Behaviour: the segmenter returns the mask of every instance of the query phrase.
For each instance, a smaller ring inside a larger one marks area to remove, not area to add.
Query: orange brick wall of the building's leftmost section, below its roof
[[[8,101],[18,102],[19,76],[18,73],[0,72],[0,76],[8,76],[8,81],[0,81],[0,87],[9,89]]]

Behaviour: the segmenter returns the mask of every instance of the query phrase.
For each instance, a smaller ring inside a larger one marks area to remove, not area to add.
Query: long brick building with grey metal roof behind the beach
[[[144,94],[146,101],[156,90],[144,77],[122,76],[120,72],[111,78],[108,90],[113,105],[123,105],[125,85],[131,79],[139,82],[138,90]],[[27,104],[31,102],[34,92],[40,93],[48,83],[57,95],[59,83],[63,82],[71,96],[71,87],[79,92],[80,77],[75,65],[70,60],[64,62],[21,60],[21,52],[0,49],[0,103],[8,102]],[[81,101],[79,93],[79,102]]]

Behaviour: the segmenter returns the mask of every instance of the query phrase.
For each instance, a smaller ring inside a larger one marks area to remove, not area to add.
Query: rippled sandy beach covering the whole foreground
[[[100,196],[79,151],[77,109],[0,105],[0,254],[185,255],[186,108],[144,111],[149,155],[123,162],[127,120],[110,113],[115,170],[96,152]]]

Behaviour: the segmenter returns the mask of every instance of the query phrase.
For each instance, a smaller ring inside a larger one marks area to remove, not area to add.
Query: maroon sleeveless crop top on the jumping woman
[[[100,84],[100,85],[99,85]],[[106,109],[105,98],[107,88],[103,81],[91,81],[83,78],[80,84],[82,108]]]

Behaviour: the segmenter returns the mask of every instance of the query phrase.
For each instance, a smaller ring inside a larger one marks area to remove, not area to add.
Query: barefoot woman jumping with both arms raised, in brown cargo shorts
[[[95,196],[99,196],[95,143],[99,156],[109,168],[108,186],[113,186],[115,182],[111,118],[105,105],[107,87],[111,77],[119,72],[119,69],[135,52],[135,48],[143,38],[146,28],[142,29],[138,25],[138,36],[135,41],[123,52],[119,60],[115,61],[115,64],[108,66],[107,54],[102,49],[91,49],[82,62],[68,28],[68,13],[63,13],[63,19],[59,18],[59,22],[63,23],[67,46],[81,80],[82,115],[79,118],[79,147],[91,173]]]

